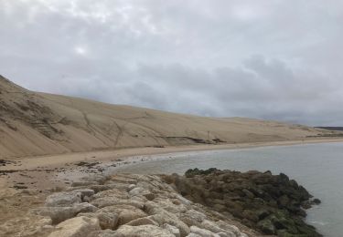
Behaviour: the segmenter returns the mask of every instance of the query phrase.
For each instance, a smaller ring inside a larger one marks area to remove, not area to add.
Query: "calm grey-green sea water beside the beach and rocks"
[[[120,169],[135,173],[184,173],[190,168],[284,172],[322,201],[307,222],[327,237],[343,236],[343,143],[230,149],[153,156]]]

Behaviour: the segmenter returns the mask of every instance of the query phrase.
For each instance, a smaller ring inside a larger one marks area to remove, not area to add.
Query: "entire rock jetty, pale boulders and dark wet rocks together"
[[[95,175],[48,195],[35,236],[321,236],[304,222],[318,203],[284,174],[188,170]]]

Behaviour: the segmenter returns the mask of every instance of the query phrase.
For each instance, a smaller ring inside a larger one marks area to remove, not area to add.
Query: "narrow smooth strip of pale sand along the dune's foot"
[[[149,155],[164,155],[171,153],[191,152],[191,151],[206,151],[220,149],[250,149],[263,147],[278,147],[278,146],[294,146],[307,145],[316,143],[339,143],[343,139],[304,139],[304,140],[286,140],[286,141],[262,141],[262,142],[247,142],[235,144],[206,144],[206,145],[186,145],[186,146],[170,146],[163,148],[144,147],[144,148],[123,148],[123,149],[102,149],[94,151],[72,152],[57,155],[43,155],[36,157],[18,158],[16,163],[20,165],[8,164],[0,166],[0,170],[32,170],[39,167],[63,167],[69,163],[80,161],[118,161],[122,159],[130,159],[137,156]],[[6,159],[4,159],[6,160]]]

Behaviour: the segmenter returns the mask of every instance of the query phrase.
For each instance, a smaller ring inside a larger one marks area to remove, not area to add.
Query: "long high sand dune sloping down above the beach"
[[[0,77],[0,158],[335,134],[250,118],[203,118],[37,93]],[[313,139],[313,138],[311,138]]]

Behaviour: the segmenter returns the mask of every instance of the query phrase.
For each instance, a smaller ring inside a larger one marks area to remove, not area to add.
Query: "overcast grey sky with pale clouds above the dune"
[[[212,117],[343,126],[343,1],[0,0],[0,75]]]

